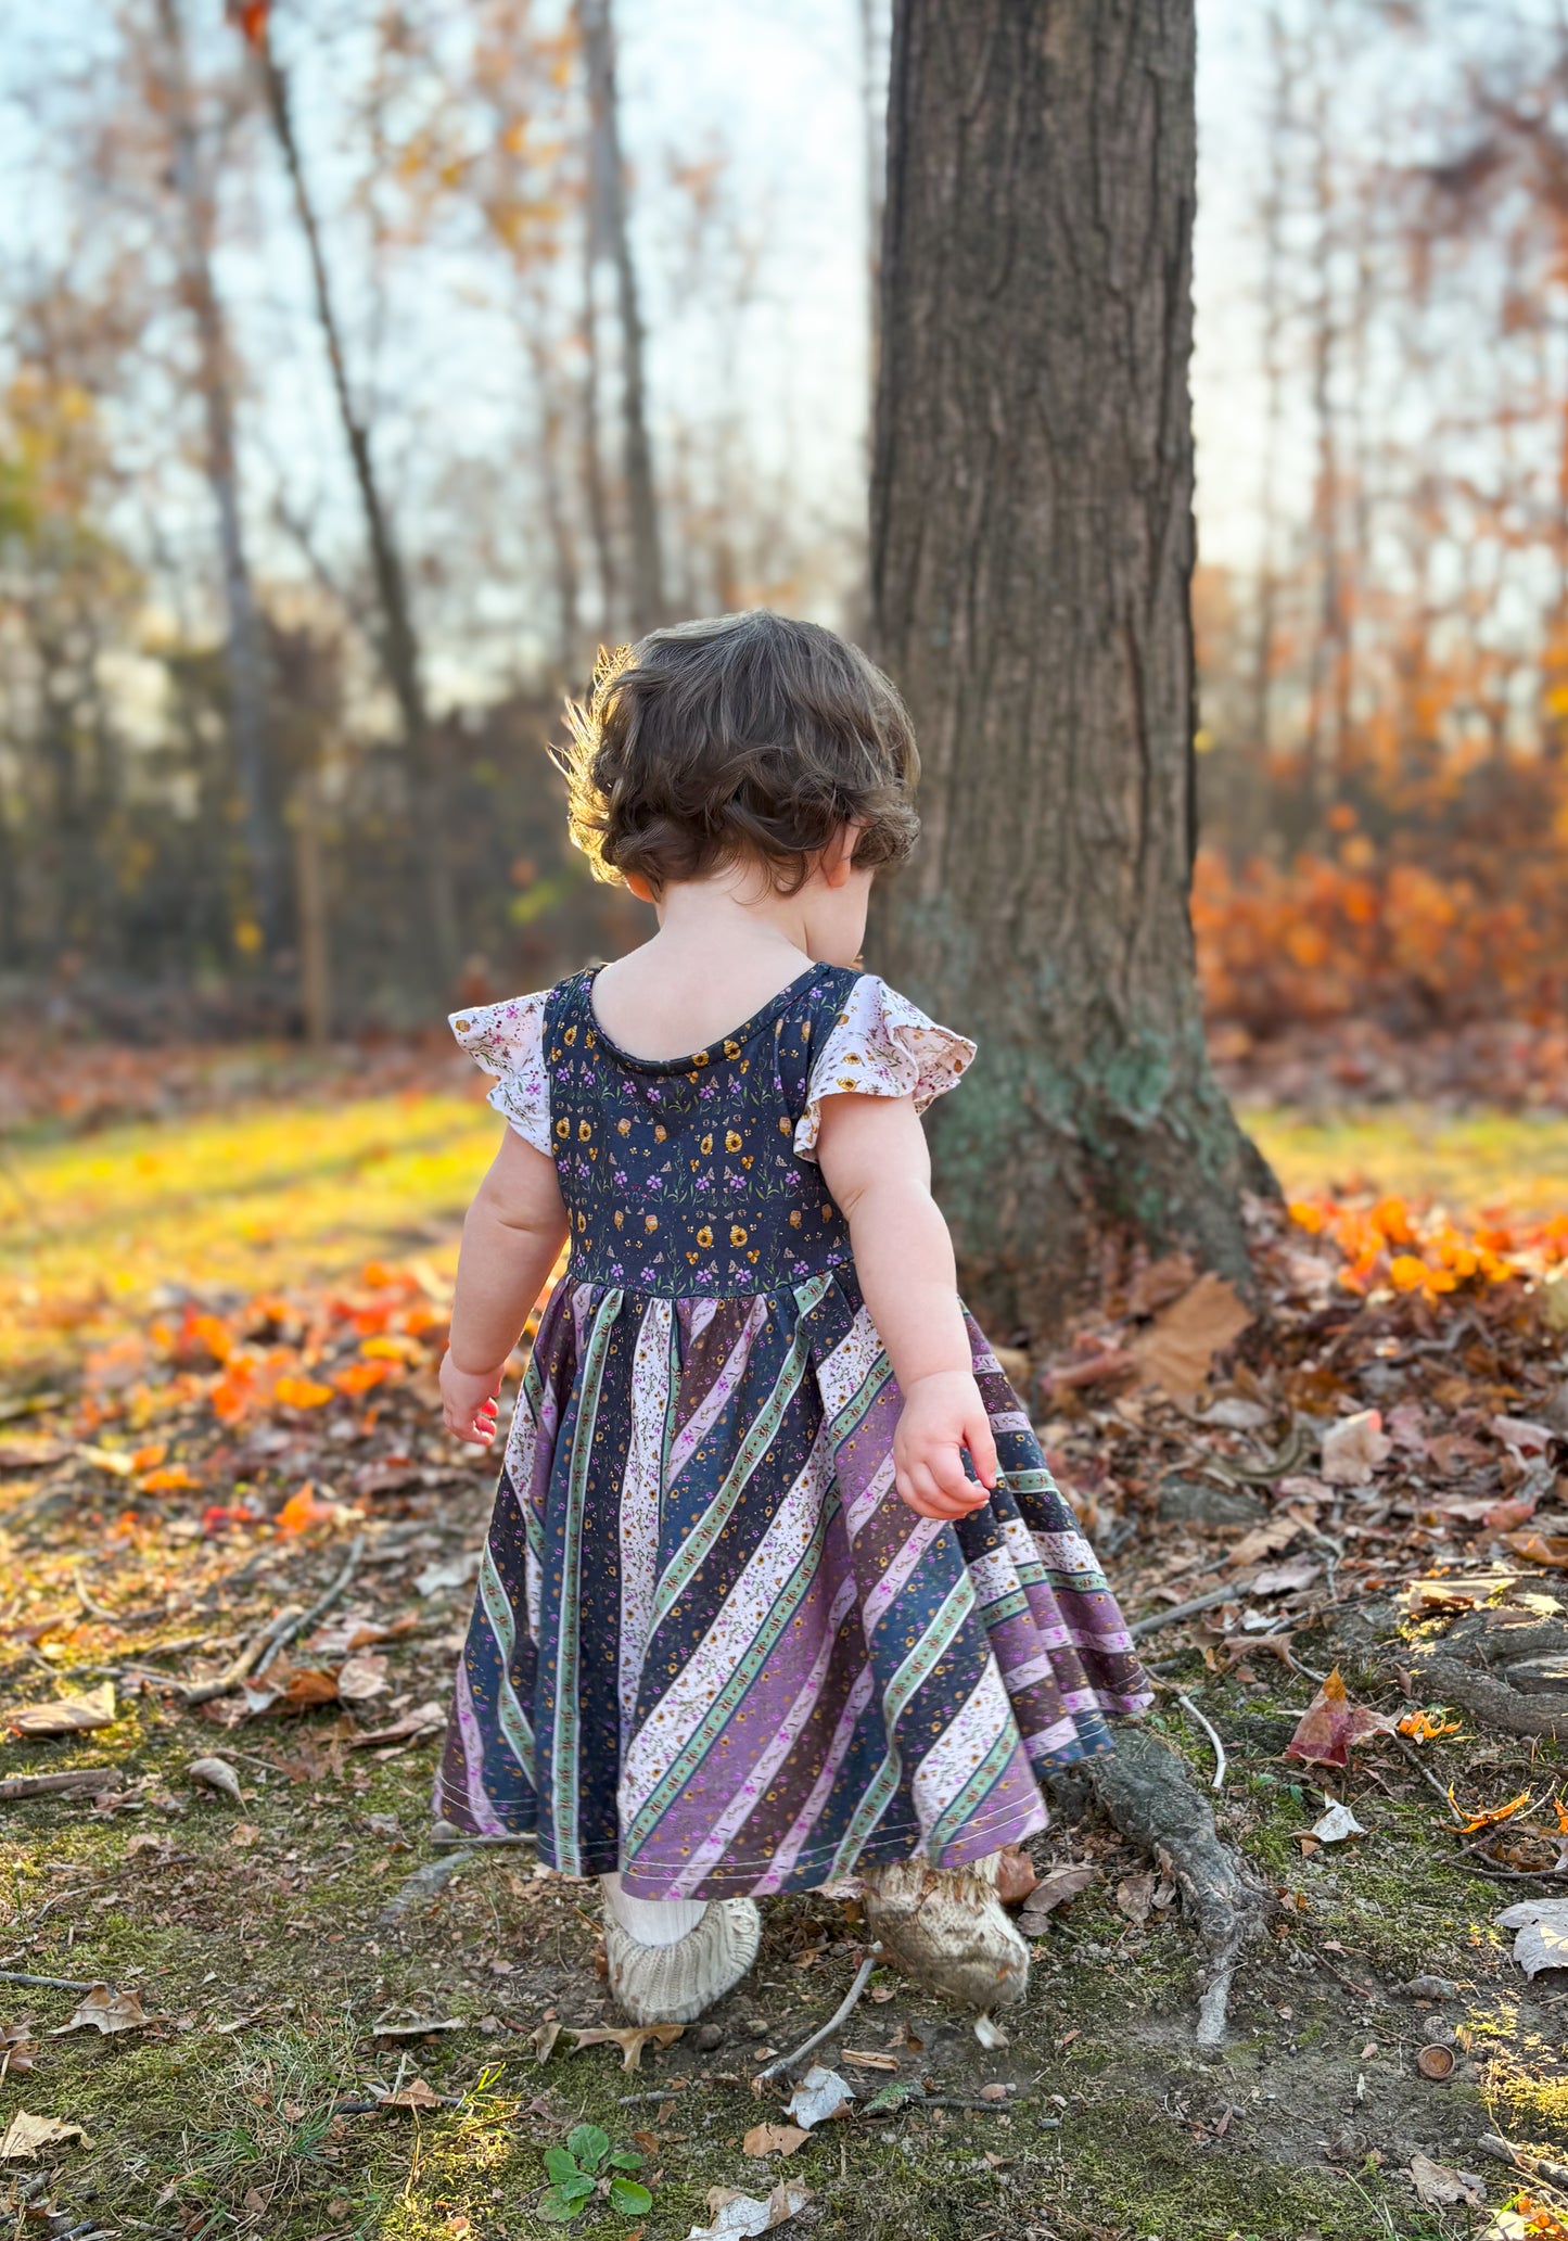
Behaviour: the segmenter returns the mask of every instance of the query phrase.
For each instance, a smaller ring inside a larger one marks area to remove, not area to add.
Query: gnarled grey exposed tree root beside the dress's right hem
[[[1111,1822],[1169,1869],[1198,1934],[1196,2044],[1221,2046],[1236,1963],[1261,1934],[1268,1898],[1214,1826],[1214,1808],[1187,1766],[1147,1728],[1120,1728],[1116,1752],[1089,1779]]]

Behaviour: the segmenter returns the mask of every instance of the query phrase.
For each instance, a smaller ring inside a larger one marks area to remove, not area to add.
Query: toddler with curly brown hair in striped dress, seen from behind
[[[909,719],[831,632],[730,614],[600,663],[571,735],[571,836],[659,932],[452,1020],[508,1120],[441,1365],[459,1439],[495,1436],[571,1257],[437,1811],[600,1878],[638,2021],[739,1983],[757,1898],[856,1869],[892,1954],[990,2010],[1028,1981],[997,1851],[1149,1692],[956,1298],[918,1114],[974,1047],[856,964],[918,831]]]

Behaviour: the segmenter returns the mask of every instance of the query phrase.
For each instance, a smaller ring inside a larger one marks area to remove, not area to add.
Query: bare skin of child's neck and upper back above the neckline
[[[652,941],[598,975],[598,1024],[634,1058],[706,1049],[813,961],[809,910],[806,890],[780,896],[755,872],[668,887]]]

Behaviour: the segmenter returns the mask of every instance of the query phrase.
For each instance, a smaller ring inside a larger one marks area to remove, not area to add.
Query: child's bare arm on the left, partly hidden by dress
[[[567,1237],[556,1161],[506,1129],[479,1183],[457,1259],[452,1336],[441,1360],[446,1430],[475,1448],[495,1439],[506,1356]]]

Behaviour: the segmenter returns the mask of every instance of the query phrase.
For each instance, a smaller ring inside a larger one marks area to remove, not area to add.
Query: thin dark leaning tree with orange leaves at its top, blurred
[[[289,81],[271,47],[267,20],[269,11],[264,0],[249,0],[249,4],[237,9],[237,18],[255,58],[267,114],[278,137],[278,148],[282,150],[289,186],[293,188],[293,206],[300,220],[300,233],[305,235],[305,249],[309,253],[316,318],[327,347],[338,419],[343,421],[343,439],[354,468],[354,486],[365,515],[370,565],[381,610],[381,661],[401,717],[403,753],[408,755],[408,780],[414,811],[414,861],[423,890],[426,923],[421,928],[423,939],[414,955],[421,975],[435,982],[437,988],[446,988],[457,968],[457,910],[452,901],[452,872],[446,847],[446,802],[441,796],[441,773],[437,769],[435,733],[426,701],[419,632],[414,627],[414,612],[408,596],[408,576],[403,571],[403,556],[392,531],[392,518],[381,493],[381,480],[370,448],[370,428],[365,426],[349,388],[343,329],[332,296],[320,224],[316,220],[316,204],[309,193],[293,130]]]

